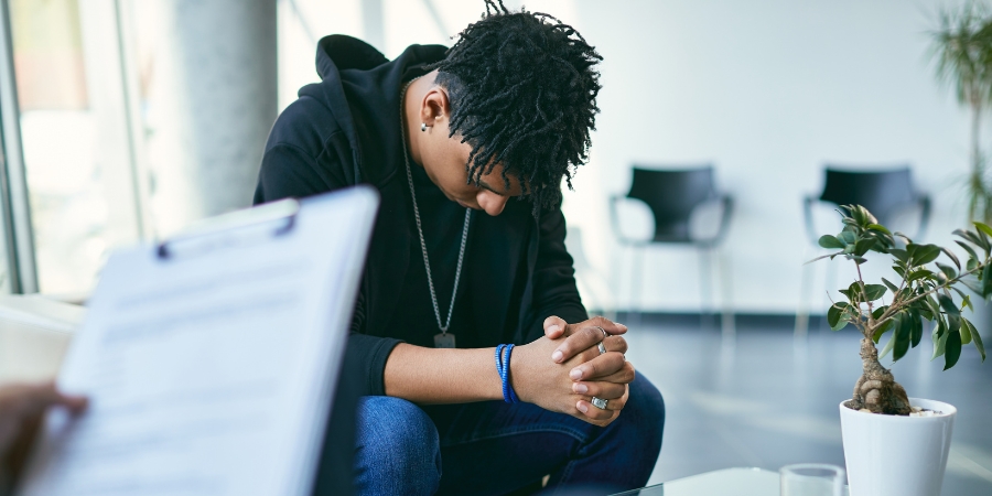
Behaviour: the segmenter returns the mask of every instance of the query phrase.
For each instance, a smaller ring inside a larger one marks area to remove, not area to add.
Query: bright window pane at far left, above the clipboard
[[[119,164],[129,143],[115,132],[127,129],[122,97],[107,97],[120,85],[119,46],[105,41],[117,40],[112,6],[11,2],[39,287],[46,293],[87,292],[108,247],[138,237],[133,191]]]

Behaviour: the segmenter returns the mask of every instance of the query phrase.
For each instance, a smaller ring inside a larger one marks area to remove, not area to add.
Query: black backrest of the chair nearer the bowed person
[[[692,211],[718,197],[713,166],[657,170],[635,165],[627,197],[639,200],[651,208],[654,242],[692,242],[689,234]]]

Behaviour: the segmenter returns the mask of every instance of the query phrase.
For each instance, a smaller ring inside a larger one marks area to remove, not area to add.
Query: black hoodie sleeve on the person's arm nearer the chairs
[[[565,249],[565,219],[560,206],[543,209],[538,227],[537,262],[531,279],[533,312],[530,322],[525,323],[525,343],[544,335],[544,319],[551,315],[570,324],[589,319],[575,287],[572,256]]]

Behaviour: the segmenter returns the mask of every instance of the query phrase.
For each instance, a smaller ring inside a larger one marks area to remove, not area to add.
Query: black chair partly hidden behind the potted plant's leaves
[[[882,225],[888,225],[897,214],[908,207],[917,206],[920,209],[919,225],[910,236],[913,239],[919,240],[926,234],[930,220],[930,197],[914,187],[913,173],[908,165],[859,171],[851,166],[828,164],[824,168],[824,174],[823,192],[820,196],[809,195],[802,202],[806,233],[813,246],[819,246],[820,235],[823,234],[818,234],[813,226],[812,205],[817,202],[833,205],[862,205]],[[809,303],[809,284],[812,282],[809,270],[809,266],[802,269],[802,288],[794,330],[796,336],[805,336],[809,326],[807,304]],[[832,274],[832,271],[828,269],[827,273],[828,276]]]

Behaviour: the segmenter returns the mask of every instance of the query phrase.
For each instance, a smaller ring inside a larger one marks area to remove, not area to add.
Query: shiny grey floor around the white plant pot
[[[651,484],[733,466],[843,466],[838,405],[850,398],[861,370],[853,330],[833,333],[813,323],[797,346],[784,317],[738,316],[735,339],[723,339],[698,316],[618,320],[632,328],[628,359],[667,406]],[[929,360],[929,341],[920,347],[893,373],[909,396],[958,408],[942,494],[992,495],[992,359],[982,364],[969,348],[944,371],[942,358]]]

